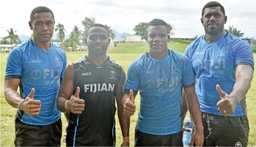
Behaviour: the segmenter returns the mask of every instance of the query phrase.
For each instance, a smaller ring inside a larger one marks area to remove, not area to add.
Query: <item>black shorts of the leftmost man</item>
[[[15,116],[15,146],[60,146],[62,121],[47,126],[26,124]]]

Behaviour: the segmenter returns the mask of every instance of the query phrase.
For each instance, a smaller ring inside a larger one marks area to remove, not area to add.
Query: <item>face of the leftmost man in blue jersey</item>
[[[33,29],[34,38],[41,43],[49,42],[53,36],[55,21],[50,12],[37,12],[29,27]]]

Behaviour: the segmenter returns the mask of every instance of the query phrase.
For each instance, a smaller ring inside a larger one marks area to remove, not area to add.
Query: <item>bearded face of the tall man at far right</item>
[[[218,35],[224,29],[227,22],[227,16],[224,16],[220,7],[206,8],[201,23],[204,25],[205,33],[209,35]]]

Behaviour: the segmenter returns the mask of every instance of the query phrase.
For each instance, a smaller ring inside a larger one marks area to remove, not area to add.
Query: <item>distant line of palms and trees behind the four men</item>
[[[77,46],[80,47],[85,45],[85,38],[87,36],[87,30],[89,28],[89,26],[93,25],[96,23],[96,18],[94,17],[85,17],[84,20],[80,21],[80,23],[82,23],[82,25],[84,26],[83,29],[80,29],[77,27],[77,25],[75,25],[72,28],[72,32],[70,32],[69,34],[69,38],[65,40],[65,27],[63,24],[57,24],[54,31],[57,32],[57,40],[52,40],[52,42],[60,42],[61,48],[62,49],[68,49],[68,47],[72,47],[72,49],[76,50]],[[135,27],[133,28],[133,31],[135,32],[135,35],[139,35],[142,36],[142,40],[145,39],[146,35],[147,35],[147,22],[141,22],[137,25],[135,25]],[[107,24],[105,24],[105,27],[108,29],[109,33],[110,33],[110,38],[112,40],[114,40],[114,38],[116,38],[116,35],[113,33],[113,30],[111,29],[110,26],[108,26]],[[168,27],[169,27],[169,31],[168,34],[170,36],[174,35],[173,32],[173,26],[171,24],[168,23]],[[244,33],[241,32],[241,30],[238,30],[237,28],[234,28],[233,26],[229,26],[229,29],[225,29],[225,31],[228,31],[230,34],[233,34],[237,37],[243,37]],[[1,41],[1,44],[20,44],[22,43],[22,41],[20,41],[19,36],[16,34],[17,31],[14,31],[13,28],[10,28],[7,30],[8,32],[8,36],[3,37],[3,40]],[[124,38],[123,42],[125,42],[125,36],[127,36],[128,33],[122,33],[122,38]],[[30,38],[33,37],[33,33],[31,35]],[[194,38],[192,38],[191,40],[174,40],[180,43],[186,43],[189,44],[191,43],[191,41],[195,40],[198,36],[195,36]],[[29,38],[29,39],[30,39]],[[7,41],[7,39],[10,39],[10,42]],[[117,45],[117,42],[114,42],[114,46]]]

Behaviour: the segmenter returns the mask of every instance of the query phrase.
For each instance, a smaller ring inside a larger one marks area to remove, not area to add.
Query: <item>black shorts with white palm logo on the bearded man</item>
[[[204,126],[203,146],[242,147],[248,145],[250,128],[246,115],[225,117],[202,112],[202,122]],[[193,133],[195,131],[194,123],[192,123],[192,129]]]

